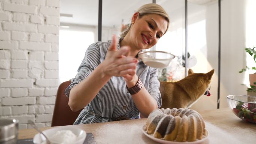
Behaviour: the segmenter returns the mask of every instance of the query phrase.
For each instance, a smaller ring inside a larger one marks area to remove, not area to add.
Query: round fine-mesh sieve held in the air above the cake
[[[149,67],[166,68],[176,56],[164,51],[146,51],[138,53],[138,57]]]

